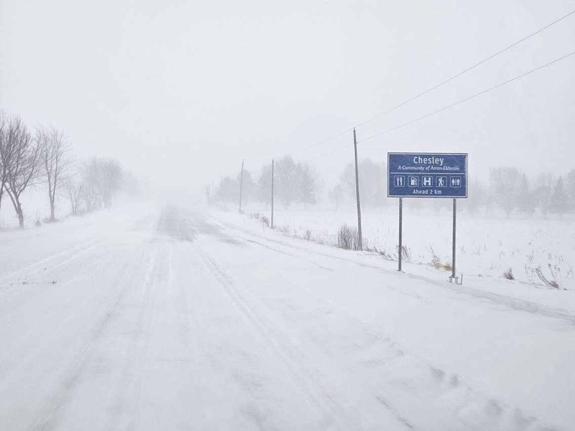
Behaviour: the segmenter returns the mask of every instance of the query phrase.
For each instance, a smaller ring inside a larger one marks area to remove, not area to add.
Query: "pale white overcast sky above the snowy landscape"
[[[385,111],[575,9],[574,1],[0,0],[0,109],[55,125],[78,157],[200,188]],[[409,121],[575,50],[575,14],[358,128]],[[351,133],[294,158],[352,143]],[[575,56],[359,145],[575,168]],[[312,161],[328,178],[352,148]]]

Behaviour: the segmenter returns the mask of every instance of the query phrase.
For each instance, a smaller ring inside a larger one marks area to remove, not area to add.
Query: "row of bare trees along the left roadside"
[[[56,197],[70,202],[73,214],[110,207],[121,187],[124,171],[116,160],[93,157],[80,163],[71,157],[72,145],[62,130],[30,130],[20,117],[0,111],[0,208],[6,197],[24,228],[22,194],[47,188],[49,221],[56,220]]]

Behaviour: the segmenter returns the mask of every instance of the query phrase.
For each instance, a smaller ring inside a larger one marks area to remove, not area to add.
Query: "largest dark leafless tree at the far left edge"
[[[35,145],[26,125],[18,117],[10,118],[4,132],[2,154],[6,172],[4,188],[18,216],[18,225],[24,228],[24,211],[20,202],[26,187],[40,178],[40,147]]]

